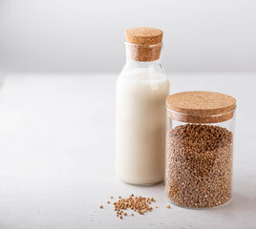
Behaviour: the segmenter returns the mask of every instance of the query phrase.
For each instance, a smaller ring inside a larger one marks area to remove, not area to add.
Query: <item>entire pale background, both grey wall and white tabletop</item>
[[[0,82],[0,229],[255,229],[255,12],[253,0],[0,0],[0,74],[9,70]],[[124,31],[137,26],[164,31],[171,93],[237,99],[233,198],[223,207],[166,209],[162,183],[115,175],[115,81]],[[159,209],[117,219],[106,202],[131,193]]]

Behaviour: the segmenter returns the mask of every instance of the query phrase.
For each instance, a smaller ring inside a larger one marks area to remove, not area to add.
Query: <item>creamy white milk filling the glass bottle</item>
[[[169,81],[150,69],[117,79],[116,170],[124,182],[153,184],[164,177],[165,97]]]

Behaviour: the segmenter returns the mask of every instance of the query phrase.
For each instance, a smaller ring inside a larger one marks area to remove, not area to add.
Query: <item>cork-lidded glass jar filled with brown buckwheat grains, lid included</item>
[[[166,98],[165,194],[182,207],[220,206],[231,198],[236,99],[184,92]]]

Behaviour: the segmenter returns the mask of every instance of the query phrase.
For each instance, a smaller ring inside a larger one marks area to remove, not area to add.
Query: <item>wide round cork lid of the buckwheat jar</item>
[[[184,92],[166,98],[168,115],[188,123],[217,123],[233,117],[236,99],[213,92]]]

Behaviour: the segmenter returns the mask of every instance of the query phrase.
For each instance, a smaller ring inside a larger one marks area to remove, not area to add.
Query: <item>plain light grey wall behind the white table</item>
[[[0,0],[0,68],[118,72],[137,26],[164,31],[168,72],[256,71],[255,0]]]

